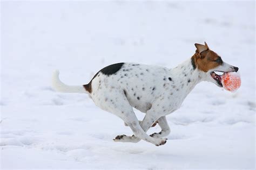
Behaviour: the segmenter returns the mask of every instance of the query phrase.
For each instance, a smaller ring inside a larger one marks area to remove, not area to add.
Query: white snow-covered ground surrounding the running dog
[[[254,169],[254,1],[1,5],[1,168]],[[87,95],[51,88],[56,68],[65,83],[85,84],[116,62],[172,68],[204,41],[239,67],[242,85],[230,93],[198,84],[167,116],[172,132],[163,146],[114,143],[132,134],[121,119]]]

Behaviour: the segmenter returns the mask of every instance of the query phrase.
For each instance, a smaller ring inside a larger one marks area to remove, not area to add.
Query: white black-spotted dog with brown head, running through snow
[[[139,63],[115,63],[107,66],[83,86],[68,86],[59,80],[56,70],[52,86],[64,93],[87,93],[101,109],[123,119],[130,126],[132,136],[118,135],[114,141],[137,143],[141,139],[156,146],[164,145],[170,134],[166,115],[179,109],[186,96],[201,81],[223,87],[221,76],[215,72],[237,72],[224,62],[208,45],[194,44],[196,53],[175,68],[142,65]],[[133,108],[144,112],[138,121]],[[161,131],[150,136],[146,133],[159,124]]]

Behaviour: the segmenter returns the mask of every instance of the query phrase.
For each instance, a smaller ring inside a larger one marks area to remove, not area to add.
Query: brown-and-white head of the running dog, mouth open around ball
[[[205,45],[194,45],[197,48],[196,53],[193,55],[194,63],[199,70],[206,74],[206,81],[213,82],[217,86],[223,87],[220,75],[215,72],[228,73],[238,71],[238,67],[229,65],[224,62],[217,53],[211,51],[206,42]]]

